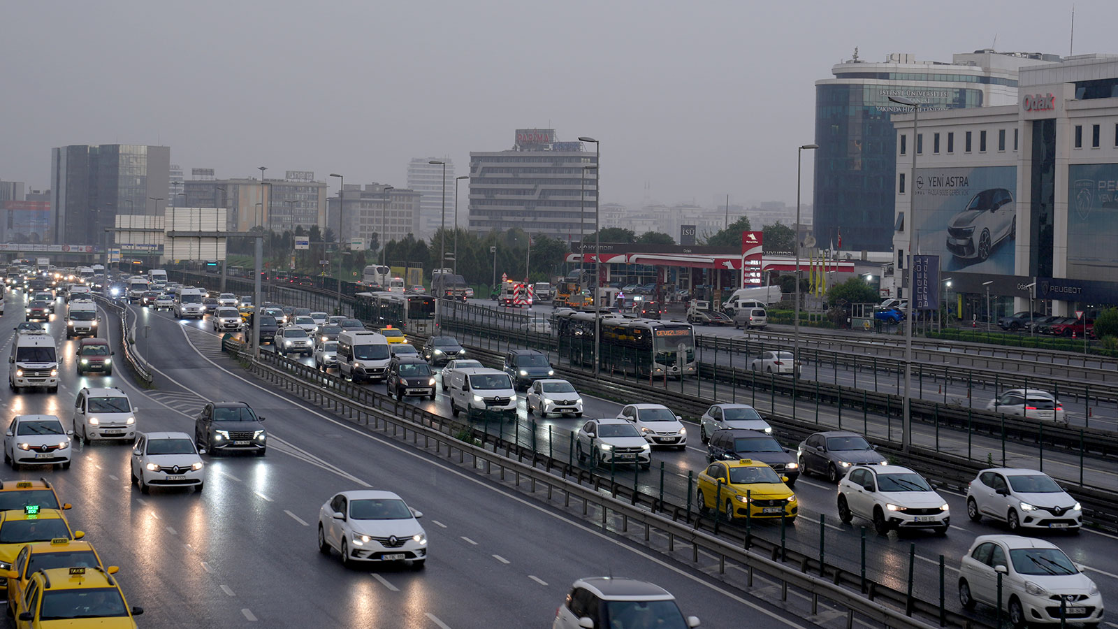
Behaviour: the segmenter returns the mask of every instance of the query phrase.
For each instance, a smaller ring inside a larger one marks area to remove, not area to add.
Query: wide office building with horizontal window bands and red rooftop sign
[[[470,153],[470,231],[512,227],[567,240],[594,231],[595,153],[555,129],[517,130],[512,149]]]

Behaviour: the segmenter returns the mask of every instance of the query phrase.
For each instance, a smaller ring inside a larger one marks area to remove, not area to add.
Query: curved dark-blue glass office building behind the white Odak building
[[[1017,98],[1017,69],[1058,62],[1040,53],[977,50],[951,63],[891,54],[883,63],[854,58],[835,65],[834,78],[815,82],[814,232],[821,246],[890,251],[897,134],[891,116],[920,111],[1008,105]],[[806,158],[806,156],[805,156]]]

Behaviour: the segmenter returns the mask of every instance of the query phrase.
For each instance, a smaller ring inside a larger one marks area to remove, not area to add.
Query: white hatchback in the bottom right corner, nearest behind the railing
[[[1060,625],[1061,608],[1065,620],[1086,627],[1098,627],[1103,613],[1099,586],[1082,566],[1051,542],[1017,535],[975,538],[959,565],[959,603],[966,610],[1001,607],[1015,628]]]

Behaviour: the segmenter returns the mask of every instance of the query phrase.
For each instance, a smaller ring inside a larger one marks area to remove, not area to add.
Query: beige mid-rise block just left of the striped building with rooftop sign
[[[408,234],[417,237],[421,226],[423,195],[418,190],[392,188],[385,194],[387,184],[347,184],[342,190],[344,206],[339,212],[338,197],[328,199],[330,227],[341,234],[341,242],[361,238],[369,246],[401,241]]]

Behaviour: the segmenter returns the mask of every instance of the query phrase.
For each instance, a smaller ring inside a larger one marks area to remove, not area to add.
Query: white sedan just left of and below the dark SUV
[[[201,456],[184,432],[141,432],[132,447],[132,484],[148,494],[155,487],[195,487],[206,485]]]

